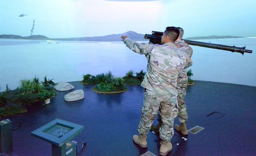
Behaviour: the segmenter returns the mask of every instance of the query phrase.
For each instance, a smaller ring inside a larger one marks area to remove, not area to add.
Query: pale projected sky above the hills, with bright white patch
[[[256,36],[256,1],[20,0],[0,1],[0,34],[91,37],[182,27],[184,37]],[[20,17],[21,14],[28,14]]]

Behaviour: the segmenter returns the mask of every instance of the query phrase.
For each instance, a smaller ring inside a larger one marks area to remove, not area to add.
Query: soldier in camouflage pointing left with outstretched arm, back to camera
[[[178,114],[177,77],[187,59],[187,54],[174,44],[178,37],[179,29],[175,27],[166,28],[161,38],[163,45],[140,44],[127,36],[121,37],[128,48],[135,53],[144,54],[148,60],[147,72],[141,83],[145,94],[138,126],[140,135],[133,135],[133,141],[142,148],[147,148],[147,134],[160,108],[161,155],[172,150],[173,120]]]

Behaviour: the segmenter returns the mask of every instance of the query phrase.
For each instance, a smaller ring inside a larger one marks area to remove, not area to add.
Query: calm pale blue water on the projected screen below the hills
[[[198,40],[253,50],[252,54],[231,53],[192,46],[193,80],[225,82],[256,86],[256,38]],[[54,82],[82,81],[84,74],[111,71],[125,76],[129,70],[146,71],[147,60],[128,49],[123,42],[60,41],[0,39],[0,91],[11,89],[21,80],[46,75]]]

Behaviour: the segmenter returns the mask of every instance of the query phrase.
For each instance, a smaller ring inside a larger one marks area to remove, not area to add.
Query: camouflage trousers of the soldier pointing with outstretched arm
[[[141,109],[140,123],[138,126],[139,134],[148,134],[148,131],[159,111],[162,119],[162,126],[159,128],[161,140],[171,142],[173,136],[173,121],[178,115],[177,96],[163,96],[145,91],[143,106]]]

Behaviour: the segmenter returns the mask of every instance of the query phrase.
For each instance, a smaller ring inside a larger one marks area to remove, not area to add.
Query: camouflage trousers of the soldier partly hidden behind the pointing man
[[[179,73],[178,79],[177,79],[178,109],[179,109],[180,123],[185,123],[188,120],[188,111],[185,103],[187,84],[188,84],[187,71],[183,70],[181,73]]]

